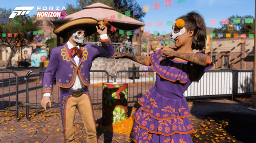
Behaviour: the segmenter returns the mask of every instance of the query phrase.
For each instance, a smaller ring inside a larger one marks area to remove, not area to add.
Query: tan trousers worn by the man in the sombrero
[[[65,123],[63,128],[65,141],[75,143],[74,119],[76,108],[80,113],[84,128],[86,128],[87,142],[98,142],[92,103],[90,97],[87,94],[82,94],[79,97],[72,96],[66,101],[66,107],[64,109]]]

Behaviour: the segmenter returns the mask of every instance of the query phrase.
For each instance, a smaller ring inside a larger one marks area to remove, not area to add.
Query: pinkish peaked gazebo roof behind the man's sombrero
[[[108,21],[110,25],[124,31],[136,30],[137,28],[145,25],[145,23],[141,21],[138,21],[131,17],[125,17],[124,14],[122,14],[121,19],[118,19],[118,16],[117,16],[118,14],[119,12],[115,11],[115,9],[112,7],[109,7],[101,3],[95,3],[87,7],[84,7],[83,10],[81,11],[70,14],[64,18],[59,18],[57,20],[54,20],[53,23],[57,23],[61,25],[70,20],[74,20],[81,17],[93,17],[98,21],[101,21],[101,20],[104,21],[104,18],[108,17]],[[113,15],[115,15],[115,21],[110,22],[111,16]]]

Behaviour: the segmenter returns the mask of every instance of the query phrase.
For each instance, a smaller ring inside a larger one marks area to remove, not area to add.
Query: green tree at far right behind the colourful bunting
[[[234,18],[241,18],[240,23],[234,23]],[[245,16],[230,16],[229,24],[222,24],[220,28],[215,28],[215,30],[212,33],[233,33],[233,34],[254,34],[254,23],[255,20],[253,20],[252,23],[245,23],[245,18],[253,18],[251,15],[245,15]],[[220,22],[221,23],[221,22]],[[234,25],[234,27],[230,26]],[[233,35],[231,34],[231,37]],[[217,36],[216,36],[217,38]],[[223,35],[223,38],[226,38],[225,35]]]

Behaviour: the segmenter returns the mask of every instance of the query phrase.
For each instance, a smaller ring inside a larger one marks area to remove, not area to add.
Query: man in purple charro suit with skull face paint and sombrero
[[[87,44],[80,45],[84,37],[95,32],[100,34],[102,46]],[[98,26],[94,18],[86,17],[71,20],[58,26],[53,33],[69,38],[69,41],[51,52],[51,59],[46,69],[42,89],[44,97],[41,100],[42,107],[46,104],[51,107],[50,96],[52,94],[52,81],[55,75],[56,84],[60,87],[60,113],[65,142],[75,142],[74,117],[75,110],[79,111],[87,133],[87,142],[98,142],[95,118],[91,97],[87,89],[90,84],[90,69],[95,58],[103,56],[110,58],[114,49],[110,38],[106,34],[104,25]]]

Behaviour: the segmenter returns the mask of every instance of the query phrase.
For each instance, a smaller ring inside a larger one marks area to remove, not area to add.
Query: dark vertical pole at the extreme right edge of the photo
[[[254,18],[256,17],[256,0],[255,0],[255,15]],[[253,65],[253,95],[252,95],[252,108],[256,109],[256,22],[254,22],[254,65]]]

